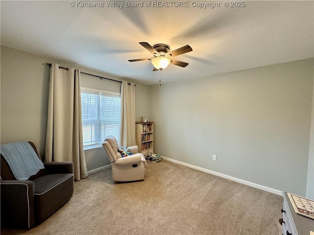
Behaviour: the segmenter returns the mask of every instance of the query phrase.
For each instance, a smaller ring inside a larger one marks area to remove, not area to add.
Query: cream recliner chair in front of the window
[[[118,152],[118,143],[114,136],[107,136],[103,147],[111,163],[111,175],[113,181],[144,180],[146,174],[146,159],[142,153],[138,153],[137,145],[129,147],[133,155],[122,157]]]

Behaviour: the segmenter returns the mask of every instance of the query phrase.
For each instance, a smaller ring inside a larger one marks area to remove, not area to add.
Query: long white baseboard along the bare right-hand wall
[[[228,180],[232,180],[232,181],[235,181],[235,182],[243,184],[243,185],[248,185],[248,186],[251,186],[251,187],[254,187],[254,188],[259,188],[259,189],[262,189],[264,191],[271,192],[271,193],[274,193],[274,194],[277,194],[277,195],[280,195],[280,196],[283,195],[282,191],[279,191],[279,190],[274,189],[274,188],[268,188],[268,187],[265,187],[265,186],[262,186],[262,185],[258,185],[258,184],[255,184],[255,183],[252,183],[252,182],[249,182],[249,181],[246,181],[246,180],[241,180],[241,179],[235,178],[233,176],[225,175],[225,174],[218,173],[216,171],[205,169],[205,168],[202,168],[202,167],[199,167],[199,166],[195,166],[195,165],[183,163],[183,162],[180,162],[180,161],[177,161],[177,160],[173,160],[171,158],[166,158],[166,157],[162,156],[162,159],[167,160],[169,162],[176,163],[176,164],[184,165],[184,166],[196,169],[196,170],[204,171],[204,172],[207,172],[209,174],[216,175],[216,176],[228,179]]]

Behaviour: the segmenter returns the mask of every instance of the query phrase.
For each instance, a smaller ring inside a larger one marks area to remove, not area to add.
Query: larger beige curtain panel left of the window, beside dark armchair
[[[88,176],[83,149],[78,69],[52,63],[48,101],[45,162],[73,162],[74,178]]]

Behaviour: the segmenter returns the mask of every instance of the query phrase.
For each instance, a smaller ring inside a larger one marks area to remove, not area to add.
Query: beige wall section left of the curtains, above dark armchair
[[[45,152],[50,62],[1,46],[1,143],[33,141]]]

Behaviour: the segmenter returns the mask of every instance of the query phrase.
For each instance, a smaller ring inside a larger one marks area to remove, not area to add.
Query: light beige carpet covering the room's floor
[[[1,235],[279,235],[283,198],[162,160],[145,181],[114,183],[111,169],[75,182],[73,197],[30,230]]]

